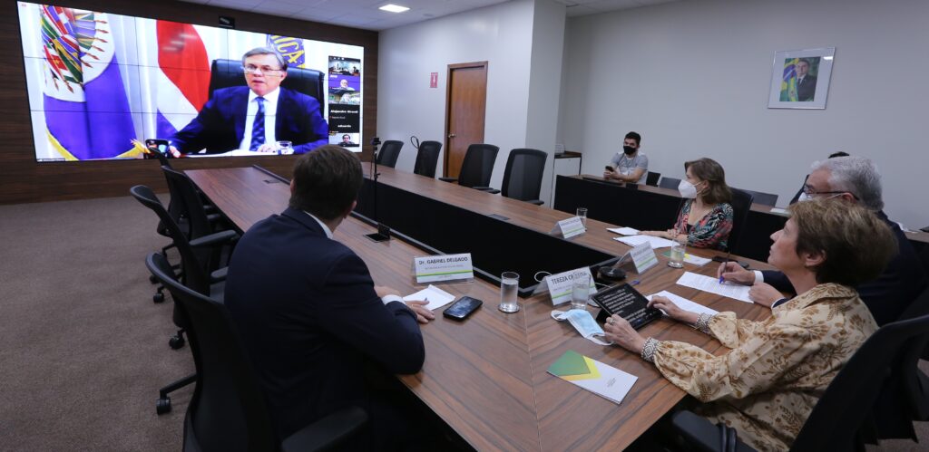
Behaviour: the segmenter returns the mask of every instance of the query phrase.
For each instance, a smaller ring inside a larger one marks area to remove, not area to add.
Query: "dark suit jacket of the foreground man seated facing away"
[[[281,437],[340,407],[366,407],[364,368],[410,374],[423,366],[412,311],[382,303],[361,258],[298,210],[272,215],[242,236],[226,305]]]

